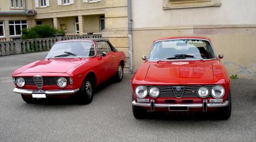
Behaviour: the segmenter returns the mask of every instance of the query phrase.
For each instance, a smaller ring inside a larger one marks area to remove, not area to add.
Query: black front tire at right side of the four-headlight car
[[[229,105],[223,108],[220,108],[217,110],[217,119],[220,120],[226,120],[229,119],[231,116],[231,108],[232,108],[232,102],[231,102],[231,93],[229,92],[227,101],[229,101]]]

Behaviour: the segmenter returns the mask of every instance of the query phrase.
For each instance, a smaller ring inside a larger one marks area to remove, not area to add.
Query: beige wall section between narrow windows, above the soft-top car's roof
[[[84,32],[100,32],[100,15],[84,16]]]

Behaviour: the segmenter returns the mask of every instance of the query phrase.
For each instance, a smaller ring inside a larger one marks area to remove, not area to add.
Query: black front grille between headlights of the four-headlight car
[[[159,97],[172,97],[172,98],[196,98],[199,97],[197,90],[203,85],[191,85],[191,86],[156,86],[160,90]],[[208,97],[212,97],[210,90],[214,85],[205,85],[209,89]],[[146,86],[149,90],[152,86]],[[149,94],[148,94],[149,96]]]

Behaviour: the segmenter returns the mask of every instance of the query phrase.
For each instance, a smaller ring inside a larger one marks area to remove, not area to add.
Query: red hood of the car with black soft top
[[[69,69],[82,64],[80,59],[44,59],[36,61],[22,73],[66,73]]]

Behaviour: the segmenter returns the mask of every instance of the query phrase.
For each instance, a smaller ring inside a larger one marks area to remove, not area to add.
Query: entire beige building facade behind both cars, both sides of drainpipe
[[[0,0],[0,41],[20,36],[36,24],[66,35],[102,34],[133,64],[135,72],[160,37],[208,36],[230,73],[256,78],[256,1],[131,0],[132,52],[129,52],[127,0]],[[131,48],[130,48],[131,51]],[[130,54],[129,54],[130,53]],[[131,55],[132,53],[132,55]]]

